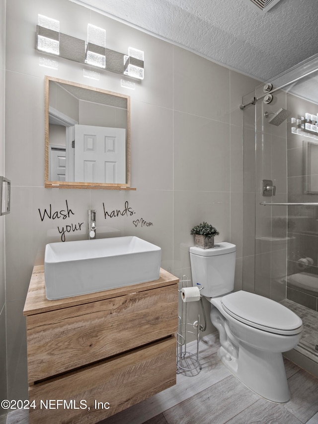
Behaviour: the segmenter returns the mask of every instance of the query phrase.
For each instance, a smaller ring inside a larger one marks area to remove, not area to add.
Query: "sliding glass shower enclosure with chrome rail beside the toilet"
[[[318,320],[318,55],[253,96],[243,112],[243,289]],[[318,331],[309,339],[315,353]]]

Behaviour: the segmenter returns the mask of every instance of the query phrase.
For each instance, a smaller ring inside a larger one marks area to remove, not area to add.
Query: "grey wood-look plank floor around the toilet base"
[[[229,372],[218,348],[217,334],[201,339],[199,373],[178,374],[175,386],[99,424],[318,424],[318,378],[285,360],[291,400],[267,402]],[[28,424],[27,414],[10,413],[7,424]]]

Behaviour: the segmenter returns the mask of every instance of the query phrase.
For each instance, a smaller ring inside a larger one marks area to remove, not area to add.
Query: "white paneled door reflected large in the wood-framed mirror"
[[[75,125],[75,181],[125,183],[126,130]]]

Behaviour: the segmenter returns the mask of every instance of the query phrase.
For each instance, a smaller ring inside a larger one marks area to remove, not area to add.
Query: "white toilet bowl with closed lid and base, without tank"
[[[301,319],[277,302],[244,291],[208,300],[212,324],[220,334],[221,361],[258,395],[273,402],[288,402],[282,352],[298,344]],[[253,306],[254,316],[245,309],[246,302]]]

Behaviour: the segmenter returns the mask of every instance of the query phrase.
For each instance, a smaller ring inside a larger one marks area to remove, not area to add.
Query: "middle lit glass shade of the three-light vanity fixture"
[[[106,67],[105,57],[106,47],[106,31],[98,26],[87,25],[87,43],[85,63],[97,66],[98,68]]]

